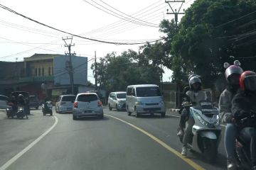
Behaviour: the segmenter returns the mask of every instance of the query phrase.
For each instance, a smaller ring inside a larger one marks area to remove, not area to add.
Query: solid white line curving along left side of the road
[[[3,166],[0,167],[0,170],[4,170],[7,169],[9,166],[11,166],[11,164],[14,164],[14,162],[16,162],[16,160],[21,157],[23,154],[25,154],[26,152],[28,152],[29,149],[31,149],[31,147],[33,147],[34,145],[36,145],[36,143],[38,143],[41,139],[43,139],[43,137],[45,137],[50,130],[53,130],[53,128],[57,125],[58,123],[58,118],[56,116],[54,116],[55,118],[55,123],[48,129],[46,130],[46,132],[44,132],[40,137],[38,137],[35,141],[33,141],[30,145],[28,145],[25,149],[23,149],[21,152],[19,152],[18,154],[16,154],[14,157],[12,157],[8,162],[6,162]]]

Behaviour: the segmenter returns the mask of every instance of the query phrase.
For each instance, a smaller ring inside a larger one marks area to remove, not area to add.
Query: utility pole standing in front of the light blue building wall
[[[74,94],[74,78],[73,78],[73,65],[72,65],[72,59],[71,59],[71,47],[75,46],[75,44],[72,45],[73,37],[71,38],[63,38],[65,42],[65,47],[68,47],[68,55],[69,55],[69,61],[68,65],[66,66],[68,69],[68,73],[70,74],[70,86],[71,86],[71,93]],[[66,40],[70,40],[70,44],[66,42]],[[67,55],[67,53],[65,53]]]

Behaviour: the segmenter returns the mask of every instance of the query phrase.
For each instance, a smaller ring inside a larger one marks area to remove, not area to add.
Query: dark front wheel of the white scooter
[[[206,157],[207,162],[213,163],[216,161],[218,154],[217,140],[205,139],[203,154]]]

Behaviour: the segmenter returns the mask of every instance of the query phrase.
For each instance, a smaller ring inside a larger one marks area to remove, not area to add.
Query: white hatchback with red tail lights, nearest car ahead
[[[73,108],[73,120],[88,116],[103,118],[102,101],[95,93],[78,94]]]

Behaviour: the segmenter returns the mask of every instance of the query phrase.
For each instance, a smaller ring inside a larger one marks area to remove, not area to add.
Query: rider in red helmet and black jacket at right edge
[[[252,169],[256,170],[256,121],[250,118],[252,112],[256,112],[256,73],[243,72],[240,76],[240,91],[232,100],[231,108],[235,125],[242,128],[251,128],[250,133],[250,157]],[[243,121],[245,120],[245,121]]]

